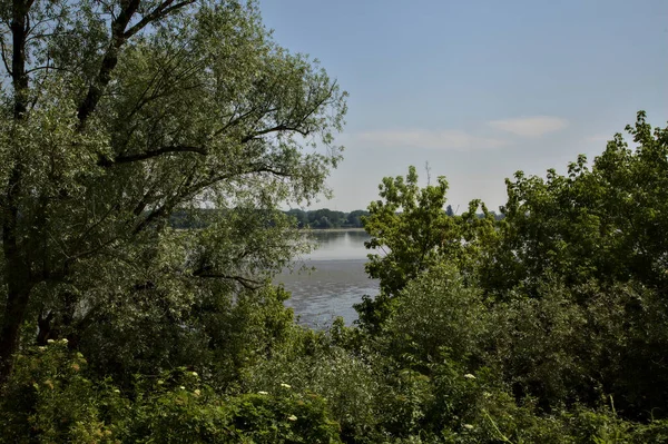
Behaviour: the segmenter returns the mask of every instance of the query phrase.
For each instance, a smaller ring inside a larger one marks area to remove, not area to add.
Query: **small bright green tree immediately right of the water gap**
[[[407,176],[385,177],[379,186],[382,199],[369,205],[362,218],[371,240],[364,245],[380,254],[370,254],[365,265],[370,277],[380,279],[381,294],[365,297],[356,306],[363,324],[375,328],[387,316],[390,300],[421,273],[444,263],[469,276],[480,263],[482,248],[493,241],[494,217],[484,204],[473,200],[461,216],[448,216],[443,209],[448,181],[420,188],[415,167]],[[483,217],[477,216],[481,208]]]

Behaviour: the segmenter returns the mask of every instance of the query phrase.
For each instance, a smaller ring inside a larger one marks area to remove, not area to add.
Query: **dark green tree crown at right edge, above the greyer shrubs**
[[[579,156],[566,176],[518,171],[507,180],[502,241],[482,272],[489,292],[534,288],[547,273],[571,286],[596,279],[668,288],[668,128],[652,131],[640,111],[626,129],[636,150],[618,134],[591,167]]]

